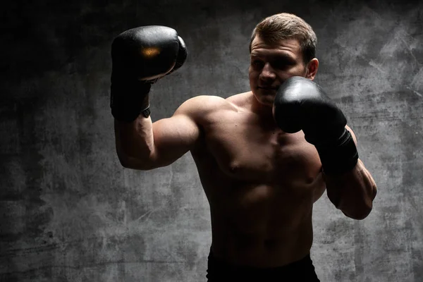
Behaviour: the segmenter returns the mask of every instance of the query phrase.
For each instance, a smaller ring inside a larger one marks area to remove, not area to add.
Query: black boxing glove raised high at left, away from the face
[[[149,25],[122,32],[111,44],[111,114],[132,122],[149,116],[146,101],[159,78],[183,65],[188,50],[171,27]]]

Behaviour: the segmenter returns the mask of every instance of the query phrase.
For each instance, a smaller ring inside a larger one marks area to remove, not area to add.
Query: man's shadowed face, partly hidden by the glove
[[[307,75],[297,39],[283,39],[277,44],[266,44],[257,35],[251,44],[250,87],[260,104],[272,106],[276,90],[292,76]]]

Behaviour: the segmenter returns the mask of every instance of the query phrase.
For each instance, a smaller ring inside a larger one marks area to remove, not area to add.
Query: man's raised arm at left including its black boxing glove
[[[116,151],[123,166],[166,166],[188,152],[197,140],[197,99],[185,102],[171,118],[152,124],[149,117],[150,87],[180,68],[187,54],[185,43],[170,27],[136,27],[114,39],[111,113]]]

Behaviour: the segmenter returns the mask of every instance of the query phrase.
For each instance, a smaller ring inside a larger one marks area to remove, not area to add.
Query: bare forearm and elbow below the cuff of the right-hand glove
[[[360,159],[350,171],[324,174],[329,200],[352,219],[364,219],[372,211],[376,183]]]

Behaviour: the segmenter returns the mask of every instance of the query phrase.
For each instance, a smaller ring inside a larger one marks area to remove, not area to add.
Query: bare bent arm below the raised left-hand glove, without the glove
[[[133,123],[115,120],[116,152],[122,166],[140,170],[167,166],[192,149],[200,135],[199,99],[188,100],[171,118],[155,123],[142,115]]]

